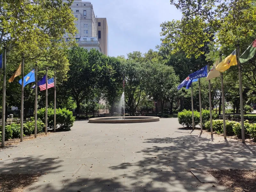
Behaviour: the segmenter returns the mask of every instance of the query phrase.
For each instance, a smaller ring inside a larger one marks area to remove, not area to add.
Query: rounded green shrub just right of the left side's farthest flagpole
[[[73,112],[67,110],[66,108],[57,109],[56,110],[56,124],[58,123],[60,126],[60,130],[62,131],[70,131],[73,123],[75,121],[75,117],[73,117]]]

